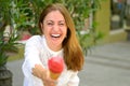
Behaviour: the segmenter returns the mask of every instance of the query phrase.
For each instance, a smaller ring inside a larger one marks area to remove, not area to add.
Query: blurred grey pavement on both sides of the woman
[[[8,62],[13,86],[23,86],[22,60]],[[130,86],[130,41],[95,46],[79,72],[79,86]]]

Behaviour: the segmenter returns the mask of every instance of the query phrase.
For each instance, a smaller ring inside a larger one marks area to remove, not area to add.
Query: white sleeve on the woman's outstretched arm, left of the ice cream
[[[25,75],[24,86],[43,86],[42,81],[31,74],[36,63],[42,64],[39,58],[39,45],[38,35],[30,38],[25,45],[25,61],[22,68]]]

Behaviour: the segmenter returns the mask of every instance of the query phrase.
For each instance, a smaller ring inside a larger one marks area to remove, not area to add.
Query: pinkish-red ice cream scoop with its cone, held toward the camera
[[[52,80],[57,80],[64,69],[64,60],[62,57],[52,57],[48,61],[50,76]]]

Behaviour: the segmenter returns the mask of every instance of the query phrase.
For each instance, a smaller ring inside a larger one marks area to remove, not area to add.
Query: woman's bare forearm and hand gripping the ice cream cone
[[[41,64],[35,64],[35,68],[32,68],[32,74],[41,78],[44,86],[56,86],[56,81],[51,80],[49,70],[43,69]]]

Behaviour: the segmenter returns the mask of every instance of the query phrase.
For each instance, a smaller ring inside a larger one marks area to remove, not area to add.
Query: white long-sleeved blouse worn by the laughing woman
[[[31,69],[36,63],[48,69],[48,59],[52,56],[63,57],[63,49],[58,52],[51,51],[46,43],[44,35],[34,35],[27,41],[25,45],[25,61],[22,67],[25,76],[24,86],[43,86],[42,81],[31,74]],[[57,78],[56,86],[78,86],[79,77],[77,74],[78,71],[67,70],[65,66]]]

